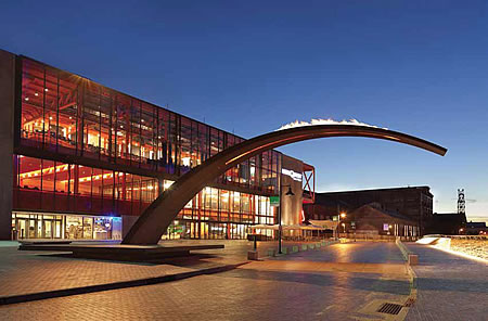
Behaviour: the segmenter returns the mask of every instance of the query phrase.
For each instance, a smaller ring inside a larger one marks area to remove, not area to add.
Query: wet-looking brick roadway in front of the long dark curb
[[[242,256],[247,244],[235,244],[231,256]],[[386,320],[361,308],[406,298],[400,262],[391,243],[335,244],[214,275],[2,306],[0,320]]]

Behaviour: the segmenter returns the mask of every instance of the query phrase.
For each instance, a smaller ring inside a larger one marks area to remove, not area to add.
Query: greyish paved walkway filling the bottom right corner
[[[413,267],[418,298],[406,320],[487,320],[487,264],[427,245],[408,243],[407,246],[419,255],[420,264]]]

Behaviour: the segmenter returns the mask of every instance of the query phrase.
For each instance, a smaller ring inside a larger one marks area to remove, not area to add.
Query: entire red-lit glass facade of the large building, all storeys
[[[80,76],[21,60],[13,207],[61,214],[68,226],[62,237],[113,239],[103,232],[104,224],[112,226],[104,217],[140,215],[179,176],[243,141]],[[242,239],[249,224],[273,223],[268,196],[278,191],[280,159],[279,152],[269,151],[229,169],[213,184],[218,189],[205,188],[185,206],[166,237]]]

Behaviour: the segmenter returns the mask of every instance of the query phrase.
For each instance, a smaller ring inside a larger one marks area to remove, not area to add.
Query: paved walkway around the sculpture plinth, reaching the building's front
[[[57,252],[20,252],[17,242],[0,242],[0,297],[239,266],[247,262],[247,251],[253,248],[253,243],[245,240],[177,240],[163,241],[160,244],[163,246],[223,244],[226,247],[198,251],[190,257],[144,264],[73,258]],[[259,242],[258,246],[265,253],[267,248],[275,247],[277,242]]]

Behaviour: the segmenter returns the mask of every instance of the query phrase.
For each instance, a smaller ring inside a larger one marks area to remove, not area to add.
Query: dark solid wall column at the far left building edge
[[[11,239],[15,55],[0,50],[0,240]]]

